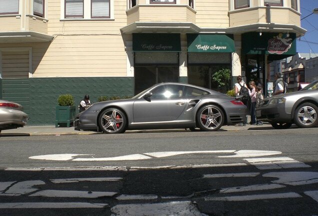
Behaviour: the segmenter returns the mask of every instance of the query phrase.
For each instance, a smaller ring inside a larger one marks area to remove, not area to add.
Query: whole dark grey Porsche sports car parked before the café
[[[237,98],[191,84],[155,84],[130,99],[93,103],[80,112],[75,130],[122,133],[126,129],[196,127],[213,131],[242,122],[246,106]]]

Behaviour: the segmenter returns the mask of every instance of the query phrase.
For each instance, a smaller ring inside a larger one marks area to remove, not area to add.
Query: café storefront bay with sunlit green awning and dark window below
[[[219,86],[213,76],[220,72],[232,76],[232,52],[235,46],[231,34],[187,34],[188,83],[223,93],[231,89],[231,78]]]

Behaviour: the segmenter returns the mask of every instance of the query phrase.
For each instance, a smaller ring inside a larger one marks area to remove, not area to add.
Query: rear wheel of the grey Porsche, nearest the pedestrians
[[[205,105],[196,113],[197,126],[203,131],[218,130],[224,123],[224,114],[216,105]]]

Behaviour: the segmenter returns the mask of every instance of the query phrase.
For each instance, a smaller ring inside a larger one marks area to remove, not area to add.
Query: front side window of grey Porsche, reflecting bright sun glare
[[[160,85],[153,89],[151,98],[178,98],[183,95],[182,85]]]

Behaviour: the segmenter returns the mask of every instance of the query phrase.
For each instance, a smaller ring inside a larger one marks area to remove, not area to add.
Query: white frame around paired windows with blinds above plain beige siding
[[[65,0],[60,1],[60,20],[114,20],[114,0],[110,0],[109,18],[91,18],[91,1],[84,0],[83,18],[65,17]]]

